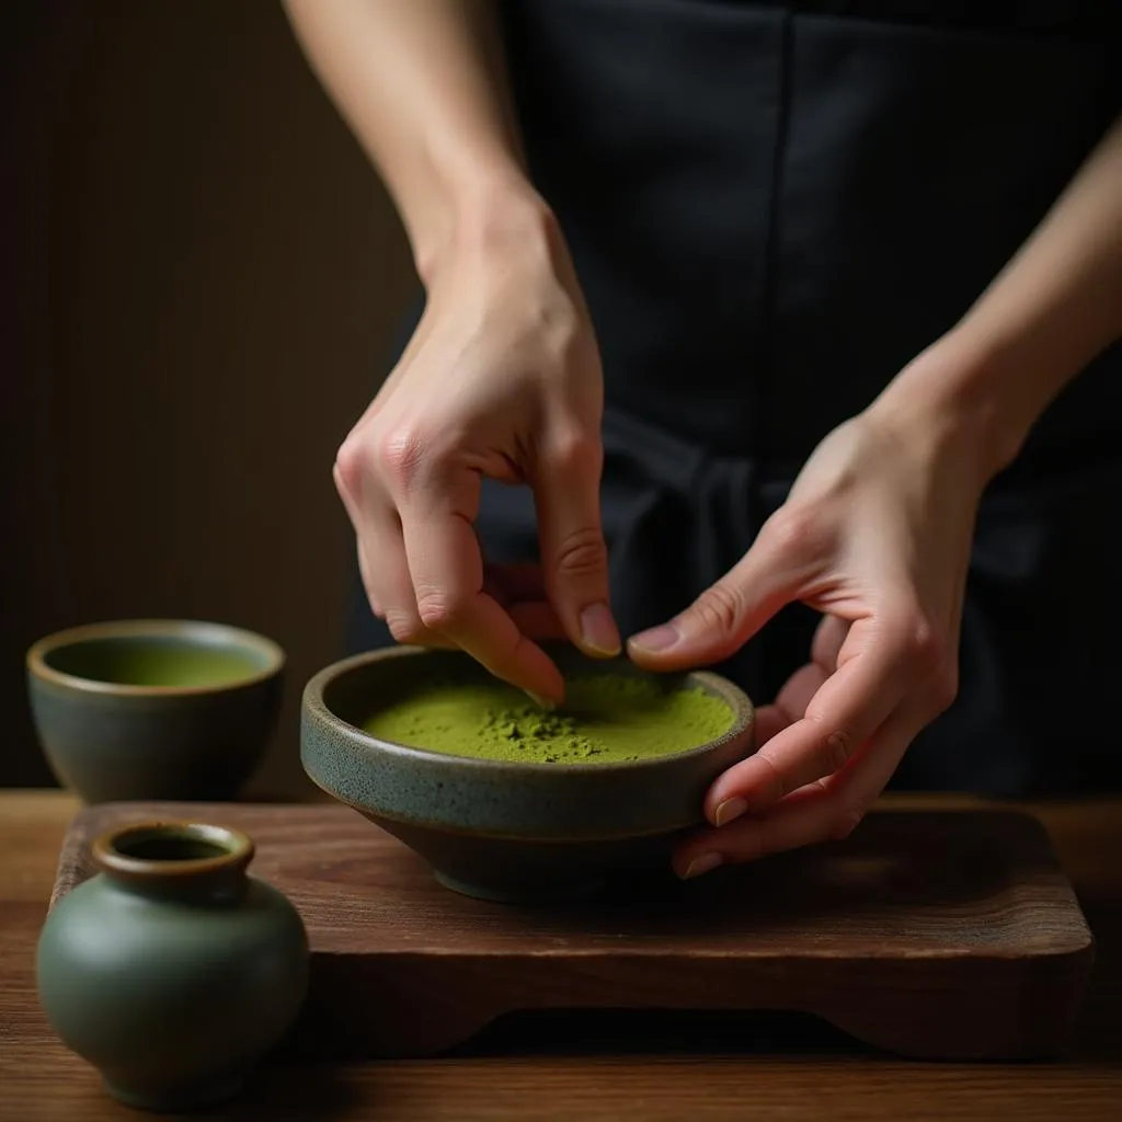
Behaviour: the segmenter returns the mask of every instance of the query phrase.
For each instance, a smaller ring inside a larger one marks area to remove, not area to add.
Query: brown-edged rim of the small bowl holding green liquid
[[[134,682],[105,682],[95,678],[68,674],[49,665],[47,657],[56,651],[80,643],[117,638],[186,638],[195,641],[218,641],[226,647],[249,649],[264,655],[266,665],[250,674],[241,674],[228,681],[208,686],[142,686]],[[27,651],[28,672],[40,681],[50,682],[66,689],[85,693],[113,697],[201,697],[242,690],[249,686],[266,682],[279,674],[287,662],[287,655],[279,643],[258,632],[238,627],[234,624],[211,619],[137,618],[107,619],[98,623],[79,624],[53,632],[37,640]]]

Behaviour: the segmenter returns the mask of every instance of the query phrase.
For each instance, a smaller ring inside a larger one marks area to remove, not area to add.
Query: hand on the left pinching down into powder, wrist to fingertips
[[[398,642],[459,646],[558,702],[561,674],[534,638],[619,651],[592,327],[539,212],[528,230],[477,237],[429,274],[421,323],[334,467],[370,606]],[[473,525],[484,476],[533,489],[540,572],[485,565]]]

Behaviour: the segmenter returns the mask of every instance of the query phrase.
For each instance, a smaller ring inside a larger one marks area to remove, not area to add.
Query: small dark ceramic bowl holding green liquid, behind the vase
[[[35,728],[85,802],[234,798],[276,725],[284,652],[224,624],[132,619],[39,640]]]

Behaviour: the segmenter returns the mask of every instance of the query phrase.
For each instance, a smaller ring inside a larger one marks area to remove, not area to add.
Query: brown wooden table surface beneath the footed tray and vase
[[[963,799],[903,799],[940,809]],[[470,1120],[1122,1119],[1122,799],[1027,808],[1051,833],[1097,940],[1092,993],[1068,1058],[922,1064],[872,1054],[778,1014],[537,1014],[433,1060],[275,1064],[217,1119]],[[0,1122],[138,1115],[54,1038],[34,954],[76,802],[0,792]],[[153,1115],[148,1115],[153,1116]]]

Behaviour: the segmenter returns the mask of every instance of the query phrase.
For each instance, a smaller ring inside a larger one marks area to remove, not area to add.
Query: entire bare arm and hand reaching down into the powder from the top
[[[558,223],[522,167],[488,0],[287,0],[313,68],[380,171],[426,301],[334,479],[375,614],[560,701],[539,646],[610,656],[603,379]],[[490,565],[485,477],[526,484],[540,565]]]

